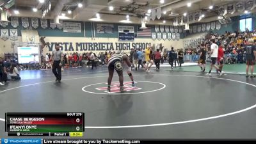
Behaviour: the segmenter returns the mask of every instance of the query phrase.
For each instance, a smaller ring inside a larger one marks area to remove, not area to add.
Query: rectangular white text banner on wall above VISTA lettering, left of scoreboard
[[[81,23],[79,22],[63,22],[64,33],[82,33]]]

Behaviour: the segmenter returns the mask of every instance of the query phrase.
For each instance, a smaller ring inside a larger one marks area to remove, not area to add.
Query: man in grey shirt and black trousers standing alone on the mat
[[[52,72],[56,76],[56,80],[60,83],[61,81],[61,61],[63,60],[63,52],[60,50],[60,45],[55,45],[55,50],[52,51],[50,61],[53,60]]]

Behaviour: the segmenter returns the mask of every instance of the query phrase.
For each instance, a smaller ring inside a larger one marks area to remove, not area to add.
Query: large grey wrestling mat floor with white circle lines
[[[133,71],[125,88],[106,93],[108,68],[69,68],[55,82],[51,70],[24,70],[0,86],[0,136],[5,112],[84,112],[84,138],[254,139],[256,79],[201,72]],[[115,88],[117,90],[115,90]]]

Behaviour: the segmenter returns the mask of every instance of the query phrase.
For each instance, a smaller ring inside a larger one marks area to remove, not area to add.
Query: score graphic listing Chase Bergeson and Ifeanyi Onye
[[[6,132],[19,132],[20,136],[45,132],[83,136],[84,132],[84,113],[6,113],[5,117]]]

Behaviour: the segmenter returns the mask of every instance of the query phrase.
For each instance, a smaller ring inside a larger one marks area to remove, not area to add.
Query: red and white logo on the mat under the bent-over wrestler
[[[134,83],[137,83],[134,81]],[[108,84],[108,83],[106,83]],[[96,90],[100,90],[100,91],[103,91],[103,92],[106,92],[106,93],[109,93],[107,90],[108,90],[108,87],[102,87],[102,88],[95,88]],[[141,88],[137,88],[137,87],[133,87],[132,86],[132,82],[129,81],[129,82],[125,82],[124,83],[124,90],[126,90],[127,92],[129,91],[135,91],[135,90],[141,90]],[[120,84],[119,82],[113,82],[111,84],[111,92],[110,93],[120,93]]]

